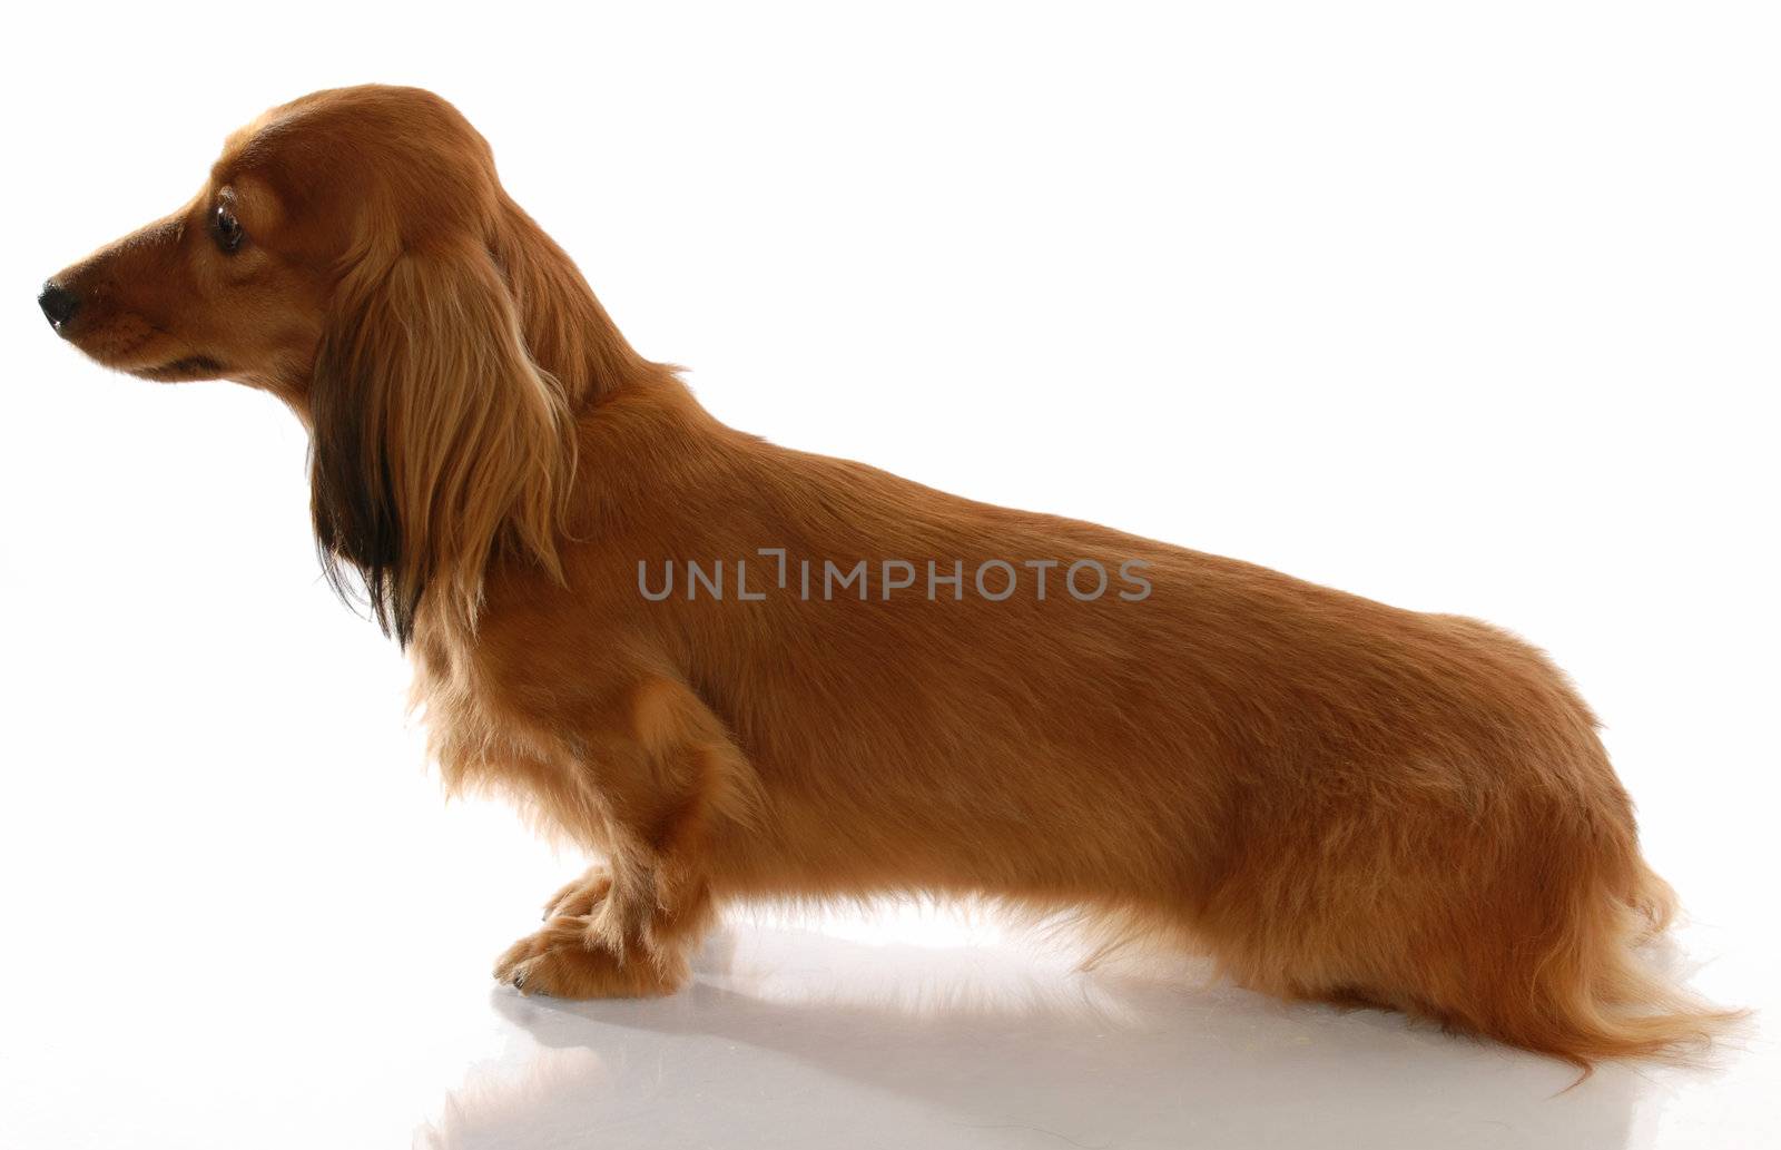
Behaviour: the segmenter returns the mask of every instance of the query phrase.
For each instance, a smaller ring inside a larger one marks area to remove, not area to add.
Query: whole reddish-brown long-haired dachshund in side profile
[[[499,960],[524,993],[670,993],[725,901],[926,892],[1585,1068],[1731,1016],[1640,965],[1672,897],[1541,652],[718,424],[429,93],[272,109],[39,303],[306,424],[447,787],[606,858]]]

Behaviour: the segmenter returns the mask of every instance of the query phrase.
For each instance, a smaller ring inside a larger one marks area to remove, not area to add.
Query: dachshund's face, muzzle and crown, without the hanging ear
[[[39,304],[105,367],[301,404],[324,336],[404,256],[504,306],[500,198],[488,144],[438,96],[315,93],[235,132],[198,196],[52,276]]]

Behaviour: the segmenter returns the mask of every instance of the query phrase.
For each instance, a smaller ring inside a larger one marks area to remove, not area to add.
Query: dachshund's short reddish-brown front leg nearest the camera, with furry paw
[[[597,794],[607,863],[557,892],[545,926],[500,956],[495,977],[565,999],[671,993],[716,913],[711,835],[757,814],[753,767],[666,676],[625,692],[577,744],[588,751],[573,769]]]

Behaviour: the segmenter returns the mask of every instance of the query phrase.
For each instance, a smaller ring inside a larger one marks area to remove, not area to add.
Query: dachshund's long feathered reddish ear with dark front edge
[[[342,285],[310,395],[312,513],[322,566],[358,571],[404,646],[422,593],[476,627],[493,554],[556,579],[573,440],[556,379],[481,244],[406,251]]]

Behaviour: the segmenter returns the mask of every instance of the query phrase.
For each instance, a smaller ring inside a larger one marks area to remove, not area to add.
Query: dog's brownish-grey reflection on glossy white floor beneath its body
[[[846,931],[842,931],[846,933]],[[490,993],[500,1054],[417,1134],[570,1146],[1649,1145],[1662,1088],[1380,1013],[1275,1004],[1195,970],[743,924],[686,993]]]

